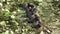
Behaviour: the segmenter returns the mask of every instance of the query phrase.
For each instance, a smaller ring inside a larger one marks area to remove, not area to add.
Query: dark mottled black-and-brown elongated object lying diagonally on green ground
[[[33,3],[22,4],[22,7],[26,10],[27,16],[29,18],[28,23],[34,23],[32,28],[36,28],[39,34],[51,34],[52,31],[42,24],[38,11]]]

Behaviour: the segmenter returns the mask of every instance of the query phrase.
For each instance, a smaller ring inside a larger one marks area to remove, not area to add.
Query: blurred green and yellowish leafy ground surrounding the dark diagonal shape
[[[35,34],[18,4],[35,3],[43,24],[60,34],[60,0],[0,0],[0,34]]]

